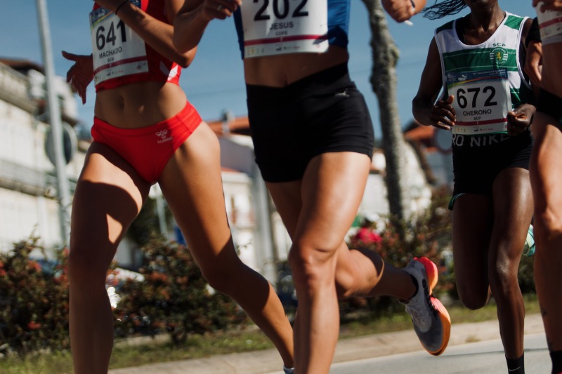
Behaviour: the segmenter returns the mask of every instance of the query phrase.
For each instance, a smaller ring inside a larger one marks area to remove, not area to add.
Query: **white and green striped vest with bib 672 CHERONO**
[[[457,20],[436,29],[444,96],[455,95],[453,134],[507,133],[507,112],[530,95],[519,61],[526,19],[507,13],[490,39],[476,46],[460,41]]]

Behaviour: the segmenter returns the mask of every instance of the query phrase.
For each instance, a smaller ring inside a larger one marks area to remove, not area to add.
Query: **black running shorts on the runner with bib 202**
[[[327,152],[372,157],[371,117],[347,65],[282,88],[246,89],[256,163],[267,182],[300,180],[308,162]]]

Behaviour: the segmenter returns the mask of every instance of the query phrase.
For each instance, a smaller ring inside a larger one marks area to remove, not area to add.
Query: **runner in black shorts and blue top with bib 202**
[[[436,265],[421,258],[396,269],[376,253],[350,251],[344,241],[374,140],[365,100],[347,69],[350,1],[241,4],[186,0],[174,21],[174,45],[188,51],[211,20],[235,15],[256,163],[292,238],[295,373],[328,373],[339,333],[338,297],[351,295],[407,300],[421,344],[441,354],[450,319],[432,296]],[[400,21],[424,4],[384,1]]]

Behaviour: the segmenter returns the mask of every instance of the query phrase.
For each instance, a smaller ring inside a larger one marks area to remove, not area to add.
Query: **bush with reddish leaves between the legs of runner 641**
[[[127,280],[118,287],[122,299],[115,309],[116,328],[123,335],[167,331],[174,344],[181,344],[188,334],[246,321],[233,300],[209,288],[185,246],[152,239],[143,254],[145,280]]]

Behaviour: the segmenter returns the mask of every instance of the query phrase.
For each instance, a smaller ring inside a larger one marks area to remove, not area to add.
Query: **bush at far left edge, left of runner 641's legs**
[[[25,356],[40,349],[70,347],[67,251],[51,262],[32,260],[44,250],[37,237],[0,253],[0,352]]]

